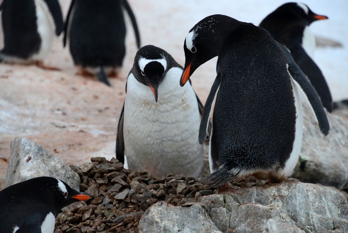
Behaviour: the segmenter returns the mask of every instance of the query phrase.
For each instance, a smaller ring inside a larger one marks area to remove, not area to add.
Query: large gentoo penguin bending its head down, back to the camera
[[[218,56],[217,75],[199,128],[203,144],[215,103],[209,141],[211,174],[202,180],[204,184],[217,187],[247,175],[279,182],[290,175],[302,143],[300,90],[322,133],[329,133],[313,86],[266,30],[225,15],[208,16],[189,31],[184,52],[181,86],[200,65]]]

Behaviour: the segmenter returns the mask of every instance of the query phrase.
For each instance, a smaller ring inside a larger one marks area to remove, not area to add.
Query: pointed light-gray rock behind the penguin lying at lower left
[[[38,176],[50,176],[80,190],[80,177],[60,158],[26,138],[16,137],[11,142],[3,188]]]

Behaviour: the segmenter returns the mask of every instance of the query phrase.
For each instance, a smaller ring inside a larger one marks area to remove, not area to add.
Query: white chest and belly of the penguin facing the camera
[[[154,175],[198,176],[203,146],[198,143],[200,114],[190,84],[180,87],[182,69],[168,70],[155,102],[150,87],[133,74],[127,80],[124,106],[125,155],[130,169]]]

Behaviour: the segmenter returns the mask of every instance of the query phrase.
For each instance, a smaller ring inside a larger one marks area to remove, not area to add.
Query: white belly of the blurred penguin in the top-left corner
[[[43,60],[52,48],[55,39],[55,23],[43,0],[34,0],[36,6],[37,27],[41,38],[41,46],[37,53],[34,53],[32,60]]]

